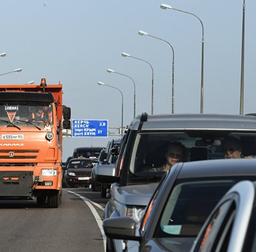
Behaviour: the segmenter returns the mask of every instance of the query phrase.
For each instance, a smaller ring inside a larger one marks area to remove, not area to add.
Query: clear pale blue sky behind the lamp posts
[[[204,26],[204,113],[239,114],[243,1],[234,0],[2,0],[0,84],[63,84],[72,119],[123,125],[136,115],[200,113],[202,26],[193,15],[163,10],[162,3],[197,15]],[[256,2],[245,2],[244,114],[256,105]],[[143,30],[150,36],[138,35]],[[126,52],[131,57],[122,57]],[[113,130],[112,130],[113,131]],[[80,146],[106,146],[117,136],[65,137],[63,159]]]

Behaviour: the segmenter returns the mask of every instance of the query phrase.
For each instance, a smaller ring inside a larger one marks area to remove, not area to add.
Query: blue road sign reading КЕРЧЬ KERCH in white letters
[[[107,120],[72,120],[72,137],[107,137]]]

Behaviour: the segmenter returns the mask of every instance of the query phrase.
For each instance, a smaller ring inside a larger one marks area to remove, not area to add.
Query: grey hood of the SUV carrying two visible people
[[[127,205],[146,206],[157,186],[158,183],[121,186],[117,189],[118,193],[115,195],[115,199]]]

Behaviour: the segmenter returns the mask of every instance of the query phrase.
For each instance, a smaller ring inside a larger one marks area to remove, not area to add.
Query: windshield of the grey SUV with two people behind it
[[[241,158],[256,155],[256,135],[250,133],[203,130],[138,133],[130,159],[128,183],[162,176],[166,171],[167,155],[178,158],[179,162],[223,159],[222,141],[230,137],[241,143]],[[182,155],[168,151],[170,143],[182,146]],[[234,152],[234,148],[231,151]]]

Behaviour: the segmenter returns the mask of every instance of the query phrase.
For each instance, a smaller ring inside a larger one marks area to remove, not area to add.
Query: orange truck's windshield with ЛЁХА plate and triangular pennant
[[[0,103],[0,125],[10,127],[9,122],[18,127],[42,126],[45,122],[53,124],[51,104],[27,105],[20,103]]]

